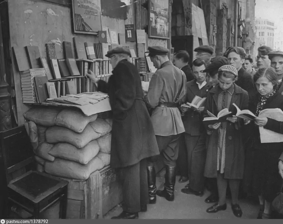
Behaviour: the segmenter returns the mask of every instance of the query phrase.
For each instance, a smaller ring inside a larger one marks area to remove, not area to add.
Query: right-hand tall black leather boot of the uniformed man
[[[174,201],[174,188],[176,182],[176,167],[175,166],[167,166],[165,173],[165,184],[164,189],[162,191],[156,191],[156,194],[160,197],[165,197],[167,201]]]

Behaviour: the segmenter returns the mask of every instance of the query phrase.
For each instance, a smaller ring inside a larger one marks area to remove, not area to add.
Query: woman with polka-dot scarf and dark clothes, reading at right
[[[283,95],[278,91],[277,75],[273,68],[263,67],[254,75],[258,94],[256,95],[256,116],[264,109],[283,110]],[[260,200],[258,219],[270,218],[270,204],[280,192],[281,177],[278,173],[278,160],[283,152],[283,142],[261,143],[259,126],[283,134],[283,122],[266,117],[257,117],[252,121],[250,145],[245,162],[244,185],[250,192],[256,193]]]

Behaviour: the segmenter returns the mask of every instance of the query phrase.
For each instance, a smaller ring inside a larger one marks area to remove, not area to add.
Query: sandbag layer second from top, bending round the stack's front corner
[[[48,143],[69,143],[81,149],[90,141],[96,140],[110,132],[111,126],[105,120],[96,119],[86,125],[82,133],[76,133],[68,128],[59,126],[49,127],[45,132],[45,138]]]

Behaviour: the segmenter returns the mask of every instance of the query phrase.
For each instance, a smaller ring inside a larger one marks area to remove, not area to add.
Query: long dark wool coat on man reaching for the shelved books
[[[122,60],[112,73],[108,84],[98,82],[98,91],[109,94],[113,113],[110,165],[116,168],[159,155],[159,150],[136,67]]]

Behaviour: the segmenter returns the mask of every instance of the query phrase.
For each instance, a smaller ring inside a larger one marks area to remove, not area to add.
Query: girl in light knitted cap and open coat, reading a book
[[[217,116],[220,110],[228,108],[229,111],[236,114],[233,103],[241,110],[248,108],[247,91],[234,84],[237,77],[237,69],[232,65],[224,65],[219,68],[219,84],[208,92],[207,111]],[[235,115],[226,120],[222,123],[208,125],[207,129],[209,140],[204,176],[217,178],[219,194],[218,203],[209,207],[207,212],[215,213],[226,210],[226,189],[229,182],[233,213],[241,217],[242,210],[238,204],[238,192],[244,173],[244,148],[241,136],[244,121]]]

